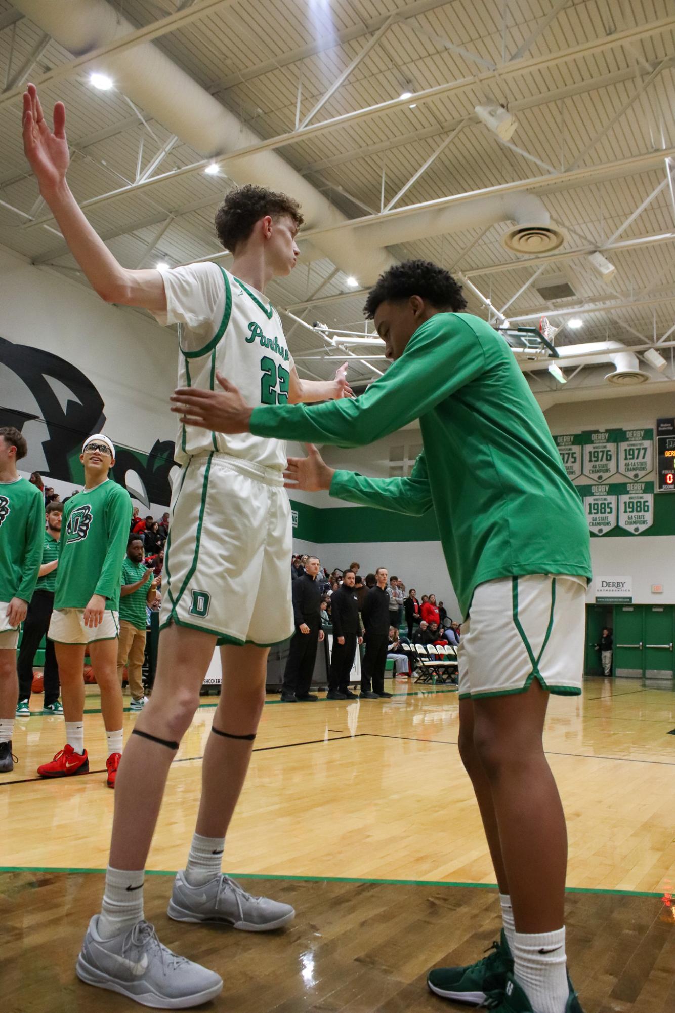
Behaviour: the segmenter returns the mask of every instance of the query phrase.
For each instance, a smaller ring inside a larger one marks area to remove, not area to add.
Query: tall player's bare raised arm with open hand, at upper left
[[[59,223],[71,253],[91,287],[108,303],[143,306],[152,312],[166,309],[164,283],[158,270],[128,270],[96,234],[66,181],[70,163],[66,139],[66,108],[54,106],[50,130],[34,84],[23,95],[23,150],[39,185],[39,192]]]

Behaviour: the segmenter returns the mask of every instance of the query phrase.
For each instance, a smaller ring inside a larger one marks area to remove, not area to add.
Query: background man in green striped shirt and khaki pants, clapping
[[[141,675],[148,629],[146,606],[152,605],[157,596],[157,579],[152,569],[144,564],[144,554],[143,539],[132,535],[126,543],[126,558],[121,564],[117,642],[117,677],[121,686],[126,666],[132,710],[143,710],[148,702]]]

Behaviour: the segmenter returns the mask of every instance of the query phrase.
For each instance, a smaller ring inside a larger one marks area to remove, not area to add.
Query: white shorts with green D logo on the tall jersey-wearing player
[[[160,629],[271,646],[294,630],[290,504],[280,471],[231,457],[191,457],[174,483]]]

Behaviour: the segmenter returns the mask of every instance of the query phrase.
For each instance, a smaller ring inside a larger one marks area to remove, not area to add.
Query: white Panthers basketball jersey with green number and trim
[[[178,385],[220,390],[216,374],[227,377],[252,405],[285,404],[288,400],[292,359],[286,348],[276,310],[260,293],[219,268],[225,286],[225,309],[218,330],[201,347],[184,338],[185,324],[178,325],[180,353]],[[282,471],[286,466],[285,443],[254,437],[250,433],[226,436],[194,425],[180,425],[175,459],[184,464],[193,454],[216,451]]]

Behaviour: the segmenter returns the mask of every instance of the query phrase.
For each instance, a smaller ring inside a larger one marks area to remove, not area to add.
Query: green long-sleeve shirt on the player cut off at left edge
[[[25,478],[0,482],[0,602],[29,602],[43,562],[45,497]]]

